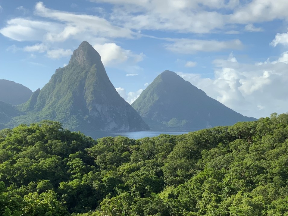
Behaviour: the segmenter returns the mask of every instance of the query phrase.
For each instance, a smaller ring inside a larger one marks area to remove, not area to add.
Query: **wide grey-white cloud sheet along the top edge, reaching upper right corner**
[[[246,31],[262,31],[253,24],[288,20],[286,0],[90,0],[114,5],[110,20],[133,30],[181,33],[239,33],[231,28],[245,24]],[[165,7],[163,7],[165,5]],[[234,26],[233,26],[234,25]]]

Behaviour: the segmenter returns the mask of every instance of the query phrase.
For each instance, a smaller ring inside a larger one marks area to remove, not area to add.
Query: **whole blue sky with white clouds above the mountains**
[[[171,70],[245,116],[280,114],[287,11],[287,0],[0,0],[0,79],[41,89],[85,40],[130,104]]]

